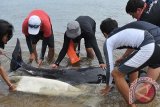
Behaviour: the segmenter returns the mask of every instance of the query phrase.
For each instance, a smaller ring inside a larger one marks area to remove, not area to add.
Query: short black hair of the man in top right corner
[[[129,0],[126,5],[126,12],[136,12],[138,8],[143,8],[145,2],[143,0]]]

